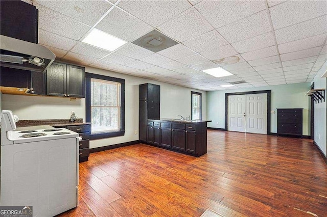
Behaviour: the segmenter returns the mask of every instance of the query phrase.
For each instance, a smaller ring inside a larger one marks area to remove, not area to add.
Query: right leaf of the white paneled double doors
[[[245,132],[267,134],[267,94],[246,95]]]

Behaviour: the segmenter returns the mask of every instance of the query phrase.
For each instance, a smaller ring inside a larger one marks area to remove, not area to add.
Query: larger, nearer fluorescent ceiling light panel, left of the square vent
[[[127,43],[120,38],[109,35],[97,29],[93,29],[84,39],[84,43],[100,47],[105,50],[114,51]]]

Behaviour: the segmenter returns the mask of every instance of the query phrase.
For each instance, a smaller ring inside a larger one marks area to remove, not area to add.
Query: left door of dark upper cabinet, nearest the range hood
[[[46,70],[46,95],[65,96],[66,64],[52,63]]]

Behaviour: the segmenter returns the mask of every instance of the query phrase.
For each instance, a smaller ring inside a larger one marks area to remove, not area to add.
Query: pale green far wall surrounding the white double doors
[[[277,132],[276,108],[303,108],[303,135],[310,135],[310,97],[305,94],[310,83],[275,85],[207,92],[208,127],[225,128],[225,93],[271,90],[271,132]],[[218,124],[217,124],[218,122]]]

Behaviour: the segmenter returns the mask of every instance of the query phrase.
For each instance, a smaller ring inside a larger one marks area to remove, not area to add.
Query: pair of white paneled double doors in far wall
[[[267,134],[267,94],[228,96],[227,130]]]

